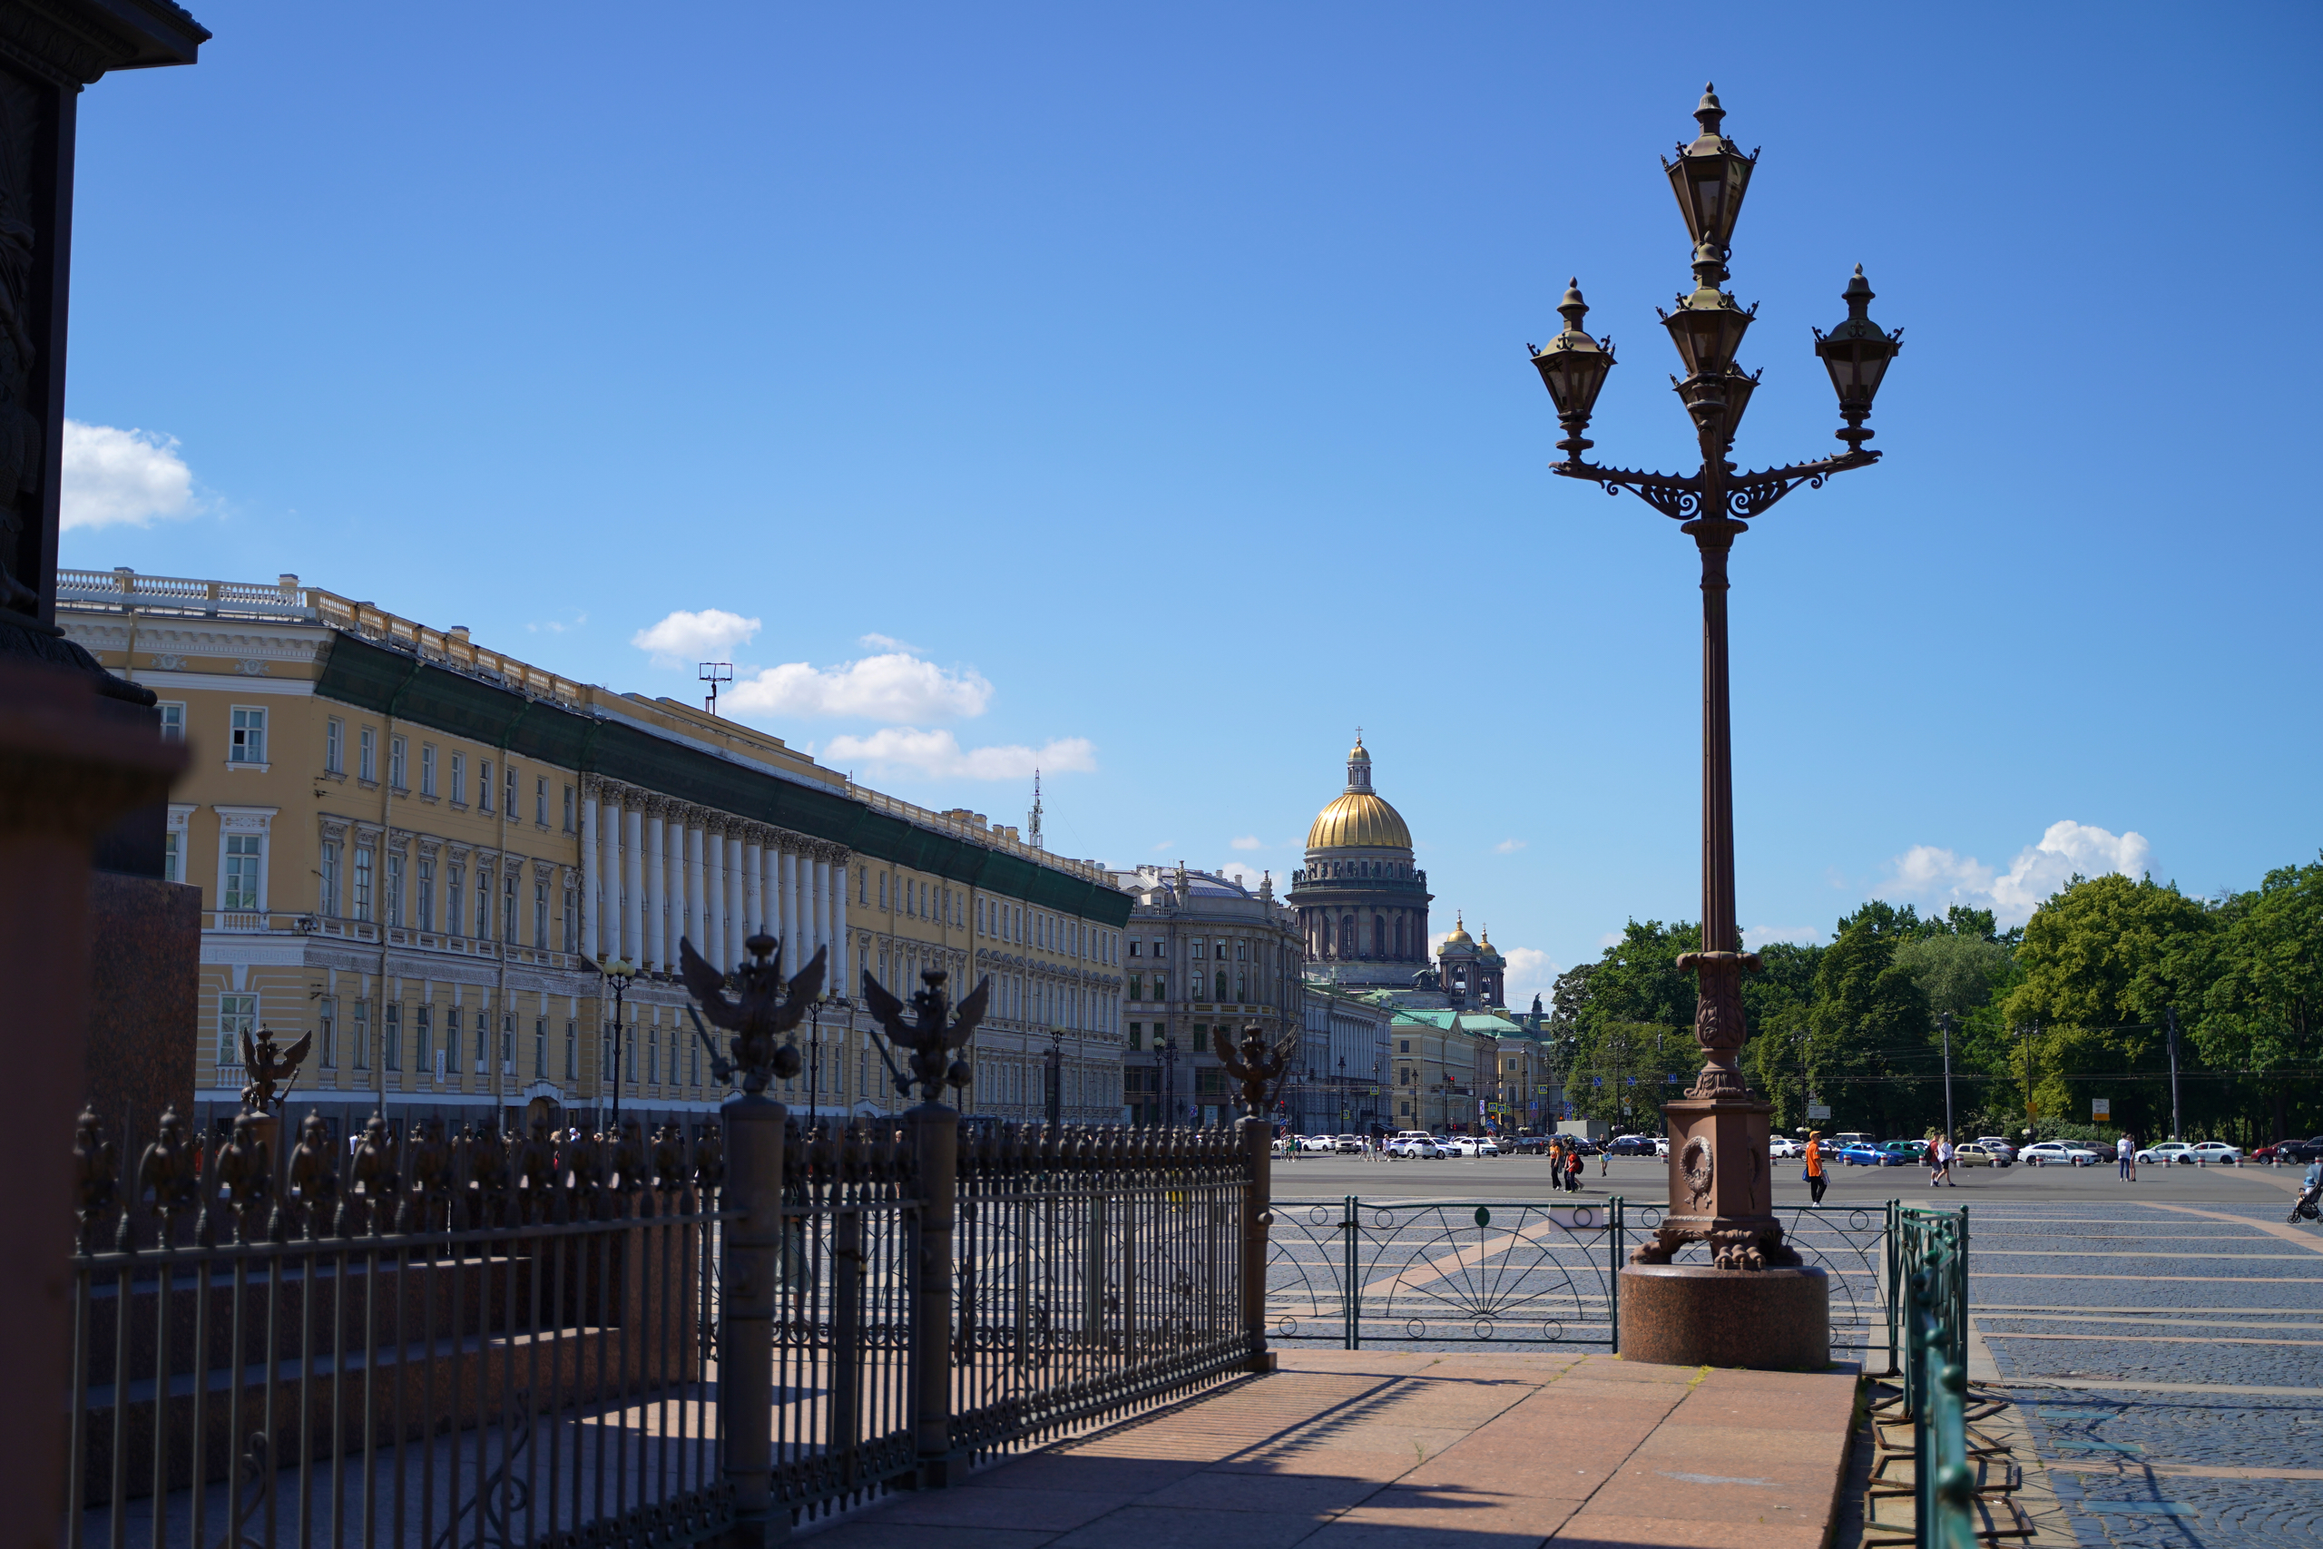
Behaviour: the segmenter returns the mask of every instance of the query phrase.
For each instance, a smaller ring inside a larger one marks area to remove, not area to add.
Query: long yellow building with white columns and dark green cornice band
[[[374,1110],[602,1124],[616,1094],[648,1124],[706,1112],[725,1089],[678,941],[734,964],[757,931],[790,971],[827,957],[794,1110],[899,1108],[860,973],[908,996],[943,968],[955,994],[994,978],[966,1112],[1043,1117],[1055,1068],[1069,1122],[1122,1117],[1131,901],[1094,862],[295,576],[60,571],[58,625],[193,752],[167,866],[202,889],[202,1010],[177,1036],[207,1122],[258,1026],[314,1036],[290,1103],[341,1133]]]

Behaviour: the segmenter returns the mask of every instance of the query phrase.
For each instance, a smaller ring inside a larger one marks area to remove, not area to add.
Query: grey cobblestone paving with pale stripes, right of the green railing
[[[2088,1196],[1970,1226],[1975,1328],[2084,1547],[2323,1542],[2323,1235]]]

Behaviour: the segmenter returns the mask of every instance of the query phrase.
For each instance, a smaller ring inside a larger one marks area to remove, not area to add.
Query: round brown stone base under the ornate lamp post
[[[1819,1373],[1831,1366],[1831,1282],[1817,1268],[1633,1263],[1621,1270],[1621,1359]]]

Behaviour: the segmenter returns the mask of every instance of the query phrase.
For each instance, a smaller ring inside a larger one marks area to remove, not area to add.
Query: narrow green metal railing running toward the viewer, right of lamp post
[[[1903,1324],[1912,1417],[1912,1542],[1972,1549],[1977,1472],[1968,1461],[1968,1210],[1889,1205],[1891,1319]]]

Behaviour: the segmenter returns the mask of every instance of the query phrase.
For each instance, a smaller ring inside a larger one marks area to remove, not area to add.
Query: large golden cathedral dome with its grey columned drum
[[[1371,787],[1371,752],[1354,739],[1347,790],[1315,813],[1306,866],[1285,901],[1299,910],[1312,973],[1340,985],[1410,989],[1429,966],[1429,876],[1412,864],[1412,829]]]

